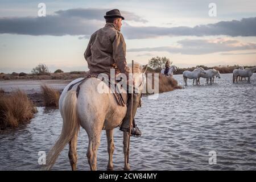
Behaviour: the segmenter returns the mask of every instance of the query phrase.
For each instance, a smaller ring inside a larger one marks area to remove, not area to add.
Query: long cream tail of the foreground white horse
[[[49,170],[53,167],[63,148],[79,131],[79,117],[77,115],[77,97],[76,91],[70,90],[64,97],[63,106],[60,108],[63,115],[63,126],[59,139],[49,151],[46,158],[46,167]]]

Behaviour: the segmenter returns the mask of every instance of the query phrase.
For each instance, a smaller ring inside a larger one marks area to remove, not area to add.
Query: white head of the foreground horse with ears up
[[[131,65],[130,65],[131,68]],[[133,80],[135,93],[142,93],[144,86],[146,85],[146,74],[147,64],[141,65],[139,63],[134,63],[133,65]]]

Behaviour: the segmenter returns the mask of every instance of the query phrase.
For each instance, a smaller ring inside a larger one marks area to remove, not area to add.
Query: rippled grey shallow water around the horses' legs
[[[181,75],[174,78],[183,85]],[[134,170],[255,170],[256,169],[256,75],[251,84],[232,84],[232,75],[221,75],[213,85],[188,86],[159,94],[157,100],[143,97],[137,111],[142,137],[131,138],[130,166]],[[38,107],[39,112],[23,129],[0,135],[0,169],[40,169],[38,151],[48,152],[61,130],[58,110]],[[123,169],[122,132],[114,130],[115,170]],[[79,170],[88,170],[88,138],[81,129],[78,143]],[[209,151],[217,153],[210,165]],[[98,169],[108,164],[105,131],[97,157]],[[70,170],[68,146],[55,170]]]

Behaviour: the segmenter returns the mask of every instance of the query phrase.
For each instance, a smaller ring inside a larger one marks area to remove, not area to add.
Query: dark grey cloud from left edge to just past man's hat
[[[0,34],[24,35],[90,35],[105,24],[107,9],[59,10],[46,17],[3,17],[0,18]],[[146,22],[130,13],[121,12],[126,20]]]

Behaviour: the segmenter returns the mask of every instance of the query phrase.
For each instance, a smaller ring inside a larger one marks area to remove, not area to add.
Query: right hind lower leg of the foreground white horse
[[[98,150],[98,146],[100,146],[100,140],[101,140],[100,134],[101,134],[100,132],[97,134],[94,134],[93,137],[90,137],[88,135],[89,145],[88,145],[86,156],[88,159],[90,170],[92,171],[97,170],[97,150]]]

